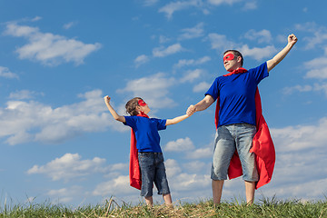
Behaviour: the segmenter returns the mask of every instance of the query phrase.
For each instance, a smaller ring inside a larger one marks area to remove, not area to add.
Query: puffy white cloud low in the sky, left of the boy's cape
[[[64,154],[45,165],[34,165],[27,173],[42,173],[54,181],[64,180],[67,182],[75,177],[84,177],[91,173],[103,173],[104,167],[102,165],[104,163],[104,158],[94,157],[92,160],[82,160],[79,154]]]

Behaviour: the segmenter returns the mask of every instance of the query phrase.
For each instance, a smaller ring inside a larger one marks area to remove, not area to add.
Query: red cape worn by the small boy
[[[149,118],[148,115],[141,113],[138,116],[143,116]],[[136,189],[141,190],[141,170],[140,164],[138,162],[138,150],[136,148],[136,138],[134,130],[131,129],[131,150],[130,150],[130,185]]]

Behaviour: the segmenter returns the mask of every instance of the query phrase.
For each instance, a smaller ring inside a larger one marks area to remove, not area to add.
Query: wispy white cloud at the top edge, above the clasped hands
[[[173,13],[176,11],[185,10],[189,7],[200,7],[202,5],[201,0],[188,0],[188,1],[177,1],[169,3],[168,5],[164,5],[159,9],[160,13],[166,14],[168,19],[173,17]]]

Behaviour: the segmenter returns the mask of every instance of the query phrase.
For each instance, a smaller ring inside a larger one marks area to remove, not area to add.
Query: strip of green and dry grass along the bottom
[[[119,205],[114,198],[101,205],[84,205],[69,208],[53,203],[26,203],[0,206],[0,217],[324,217],[327,218],[327,201],[305,202],[263,199],[253,205],[234,200],[213,207],[212,201],[174,203],[173,209],[164,205],[149,208],[144,203]]]

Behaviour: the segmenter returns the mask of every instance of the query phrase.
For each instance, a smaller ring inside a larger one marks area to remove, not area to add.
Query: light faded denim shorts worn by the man
[[[211,174],[213,180],[227,179],[228,167],[236,150],[242,163],[243,180],[258,181],[255,154],[250,153],[255,133],[256,127],[252,124],[229,124],[218,127],[214,139]]]

